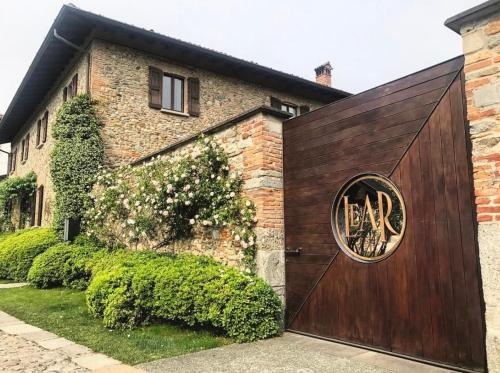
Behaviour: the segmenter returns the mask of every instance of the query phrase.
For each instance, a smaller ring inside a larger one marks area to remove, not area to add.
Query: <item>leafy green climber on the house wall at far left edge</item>
[[[12,231],[11,213],[14,200],[31,198],[36,191],[36,174],[30,172],[25,176],[9,177],[0,182],[0,231]]]

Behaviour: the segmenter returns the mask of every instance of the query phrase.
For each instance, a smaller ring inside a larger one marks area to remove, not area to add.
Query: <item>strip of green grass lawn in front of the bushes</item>
[[[73,290],[0,289],[0,309],[132,365],[231,343],[207,331],[167,324],[126,331],[109,330],[89,315],[84,293]]]

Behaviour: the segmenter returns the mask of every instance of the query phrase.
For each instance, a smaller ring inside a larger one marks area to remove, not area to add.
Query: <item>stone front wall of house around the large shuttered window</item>
[[[181,138],[198,133],[260,105],[270,96],[296,105],[319,102],[292,97],[265,87],[179,65],[124,46],[95,40],[91,47],[91,93],[99,102],[108,164],[129,163]],[[189,116],[187,82],[184,113],[151,109],[148,105],[149,66],[184,78],[200,80],[200,116]]]

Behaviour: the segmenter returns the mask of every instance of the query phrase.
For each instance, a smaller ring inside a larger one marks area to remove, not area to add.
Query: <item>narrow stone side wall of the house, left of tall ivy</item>
[[[69,69],[65,78],[53,88],[47,97],[40,103],[40,106],[35,110],[28,122],[17,133],[11,143],[11,149],[17,147],[17,162],[16,170],[11,173],[12,176],[24,176],[30,171],[34,171],[37,175],[37,185],[44,186],[43,210],[42,210],[42,225],[48,226],[52,223],[52,204],[54,202],[54,189],[50,177],[50,153],[54,146],[52,138],[52,127],[56,118],[56,113],[63,104],[63,88],[71,82],[71,78],[78,73],[78,93],[87,91],[87,65],[88,58],[84,54],[79,61],[76,62],[73,68]],[[45,144],[36,147],[36,132],[37,121],[41,119],[45,113],[49,112],[49,121],[47,126],[47,141]],[[21,162],[21,141],[27,134],[30,134],[29,154],[26,161]],[[15,210],[19,209],[19,205],[14,206]],[[38,202],[36,203],[36,215],[38,216]],[[15,217],[14,223],[17,225],[19,211],[13,211]]]

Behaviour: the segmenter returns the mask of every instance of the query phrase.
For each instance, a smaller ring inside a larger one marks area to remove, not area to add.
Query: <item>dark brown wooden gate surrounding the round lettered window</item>
[[[463,57],[284,124],[287,328],[485,367]],[[406,205],[394,254],[339,249],[332,202],[353,176],[389,178]]]

